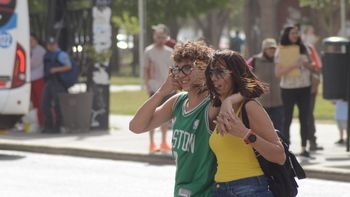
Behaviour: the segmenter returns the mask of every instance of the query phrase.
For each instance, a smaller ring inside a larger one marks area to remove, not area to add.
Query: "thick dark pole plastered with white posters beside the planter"
[[[112,0],[93,0],[92,6],[92,43],[97,54],[112,47]],[[108,130],[109,127],[109,59],[94,62],[88,74],[88,88],[94,93],[91,129]]]

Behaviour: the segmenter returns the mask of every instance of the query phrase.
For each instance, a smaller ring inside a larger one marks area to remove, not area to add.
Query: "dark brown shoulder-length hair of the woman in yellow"
[[[219,50],[214,53],[210,66],[208,66],[205,71],[210,98],[215,107],[221,106],[221,101],[219,98],[220,95],[216,91],[209,75],[209,69],[218,64],[225,65],[225,67],[232,72],[231,80],[233,84],[233,94],[239,92],[243,97],[253,99],[260,97],[268,90],[267,85],[258,80],[250,71],[246,61],[238,52],[227,49],[222,51]]]

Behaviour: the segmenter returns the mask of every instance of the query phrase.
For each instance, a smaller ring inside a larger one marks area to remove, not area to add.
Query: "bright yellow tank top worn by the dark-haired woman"
[[[236,114],[239,114],[241,107]],[[242,178],[260,176],[263,172],[251,145],[241,138],[214,132],[209,139],[210,148],[217,159],[216,182],[229,182]]]

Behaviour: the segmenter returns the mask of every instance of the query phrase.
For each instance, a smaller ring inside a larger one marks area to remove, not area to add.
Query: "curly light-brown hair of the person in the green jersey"
[[[187,41],[176,44],[172,57],[175,62],[190,60],[194,63],[194,66],[205,70],[211,62],[213,53],[214,50],[208,47],[203,41]],[[193,87],[198,89],[198,94],[207,92],[208,88],[205,83],[205,76],[203,75],[202,83],[193,84]]]

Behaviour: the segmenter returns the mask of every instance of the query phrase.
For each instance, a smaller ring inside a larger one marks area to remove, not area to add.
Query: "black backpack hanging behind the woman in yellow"
[[[243,103],[242,120],[244,125],[249,128],[249,119],[245,109],[245,105],[248,101],[249,100],[246,100]],[[269,190],[273,195],[278,197],[295,197],[298,194],[298,184],[295,177],[298,179],[304,179],[306,178],[306,175],[295,155],[289,151],[289,146],[286,143],[284,136],[280,131],[276,130],[276,132],[282,142],[286,154],[286,161],[283,165],[266,160],[255,149],[254,152],[260,167],[267,178]]]

